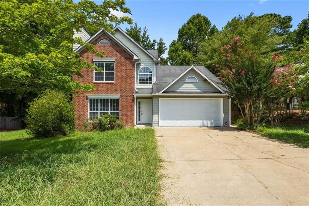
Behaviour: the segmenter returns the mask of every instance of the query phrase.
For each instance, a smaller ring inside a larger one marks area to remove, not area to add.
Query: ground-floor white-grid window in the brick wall
[[[104,115],[104,114],[116,115],[117,118],[119,119],[119,99],[118,98],[110,98],[110,99],[89,98],[88,104],[89,104],[89,109],[88,109],[89,120],[99,118],[101,115]]]

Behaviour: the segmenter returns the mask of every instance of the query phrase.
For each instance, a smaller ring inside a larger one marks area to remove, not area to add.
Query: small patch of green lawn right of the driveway
[[[279,125],[275,128],[261,126],[256,132],[270,139],[278,139],[287,143],[309,148],[309,133],[304,132],[308,127],[309,125],[307,127]]]

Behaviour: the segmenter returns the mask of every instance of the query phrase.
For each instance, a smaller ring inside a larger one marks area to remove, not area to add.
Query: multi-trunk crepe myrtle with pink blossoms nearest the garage
[[[214,64],[220,69],[219,78],[229,88],[248,127],[254,128],[260,122],[271,76],[280,58],[266,58],[263,51],[246,46],[237,36],[220,52],[225,61]]]

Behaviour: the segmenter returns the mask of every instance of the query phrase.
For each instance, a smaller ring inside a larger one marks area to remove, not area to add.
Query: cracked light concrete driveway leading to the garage
[[[167,205],[309,205],[309,149],[224,127],[158,127]]]

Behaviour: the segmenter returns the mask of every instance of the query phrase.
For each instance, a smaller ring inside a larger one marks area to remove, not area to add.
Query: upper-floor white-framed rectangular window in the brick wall
[[[98,68],[102,68],[102,72],[93,71],[95,82],[113,82],[115,81],[115,63],[114,62],[94,62]]]

